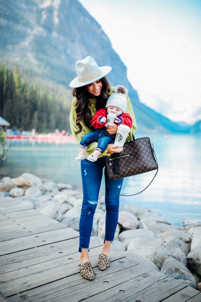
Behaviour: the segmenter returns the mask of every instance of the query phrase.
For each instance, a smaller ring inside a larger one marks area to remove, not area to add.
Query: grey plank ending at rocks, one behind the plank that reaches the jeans
[[[9,226],[10,221],[14,223],[11,226]],[[34,216],[32,218],[27,217],[27,219],[23,218],[22,220],[16,219],[14,222],[12,220],[2,221],[0,223],[0,241],[30,236],[36,233],[43,233],[51,230],[63,229],[66,227],[67,226],[64,224],[45,215]]]

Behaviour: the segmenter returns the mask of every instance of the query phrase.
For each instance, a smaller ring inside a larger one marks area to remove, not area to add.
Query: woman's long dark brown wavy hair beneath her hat
[[[108,82],[106,76],[104,76],[100,80],[102,82],[102,89],[100,95],[96,98],[97,111],[99,109],[105,108],[110,92],[110,83]],[[77,102],[75,104],[75,111],[77,113],[76,125],[79,128],[79,130],[77,130],[75,134],[78,134],[82,131],[82,125],[80,124],[81,120],[84,121],[84,124],[87,127],[93,129],[93,126],[91,124],[92,115],[90,109],[88,108],[89,93],[86,90],[86,85],[78,88],[73,88],[72,94],[74,97],[77,98]]]

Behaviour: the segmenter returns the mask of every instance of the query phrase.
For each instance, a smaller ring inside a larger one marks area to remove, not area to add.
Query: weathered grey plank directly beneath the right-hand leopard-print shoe
[[[90,262],[93,267],[97,266],[98,256],[101,252],[101,246],[90,250]],[[121,255],[118,252],[110,252],[111,262],[124,257],[124,255]],[[59,260],[55,259],[38,265],[32,265],[29,267],[30,275],[1,283],[0,291],[5,295],[5,297],[22,291],[27,291],[43,284],[79,273],[79,265],[80,254],[78,253],[61,257]],[[36,271],[39,272],[35,273]]]

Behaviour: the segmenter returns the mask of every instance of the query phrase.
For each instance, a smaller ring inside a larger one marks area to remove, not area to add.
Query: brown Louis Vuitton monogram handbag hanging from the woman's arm
[[[105,156],[109,179],[124,178],[158,169],[149,137],[139,138],[124,144],[117,153],[118,174],[113,174],[115,153]]]

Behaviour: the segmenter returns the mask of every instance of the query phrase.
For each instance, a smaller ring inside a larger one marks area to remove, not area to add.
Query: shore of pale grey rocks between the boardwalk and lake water
[[[82,193],[66,183],[42,180],[30,173],[4,177],[0,197],[11,196],[23,204],[79,231]],[[91,236],[103,243],[105,197],[99,196]],[[148,208],[120,206],[112,249],[152,269],[201,291],[201,225],[171,225]]]

